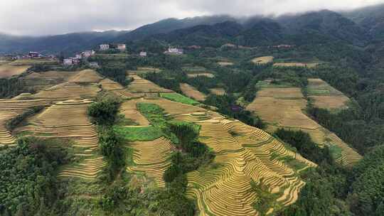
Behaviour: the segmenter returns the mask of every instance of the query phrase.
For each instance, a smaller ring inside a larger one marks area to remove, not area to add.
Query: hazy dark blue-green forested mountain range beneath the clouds
[[[139,27],[134,31],[68,33],[58,36],[10,36],[0,34],[0,53],[41,53],[71,55],[97,48],[100,43],[137,43],[156,39],[177,45],[273,45],[305,43],[306,40],[336,40],[365,46],[384,38],[384,5],[354,11],[311,11],[277,18],[253,16],[198,16],[168,18]]]

